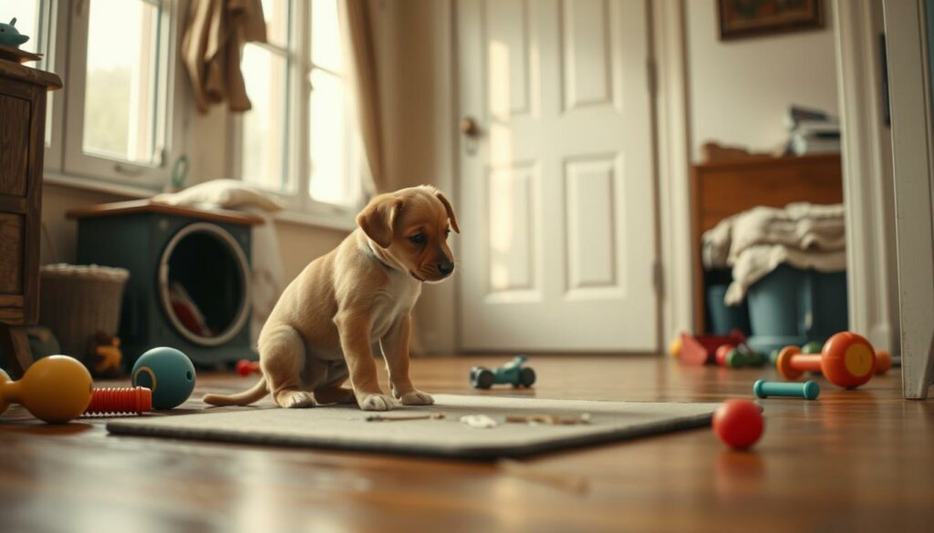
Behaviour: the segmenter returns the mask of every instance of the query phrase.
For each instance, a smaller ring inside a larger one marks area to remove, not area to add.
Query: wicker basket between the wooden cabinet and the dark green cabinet
[[[129,271],[60,263],[39,272],[39,323],[51,328],[65,355],[84,360],[98,331],[117,335]]]

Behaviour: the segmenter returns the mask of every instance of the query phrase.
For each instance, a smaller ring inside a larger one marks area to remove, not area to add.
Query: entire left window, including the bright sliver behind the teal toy
[[[46,168],[161,188],[167,180],[171,0],[5,0],[38,68],[64,73],[50,94]]]

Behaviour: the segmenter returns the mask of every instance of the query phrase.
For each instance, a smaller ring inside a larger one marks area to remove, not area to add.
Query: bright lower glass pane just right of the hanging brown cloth
[[[247,45],[240,66],[253,104],[243,115],[243,180],[266,189],[291,190],[285,164],[289,131],[286,59]]]

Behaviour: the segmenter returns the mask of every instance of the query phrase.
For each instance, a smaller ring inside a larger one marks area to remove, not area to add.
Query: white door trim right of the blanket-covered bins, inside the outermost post
[[[850,330],[899,353],[891,133],[884,124],[876,1],[835,0]],[[881,12],[879,13],[881,15]]]

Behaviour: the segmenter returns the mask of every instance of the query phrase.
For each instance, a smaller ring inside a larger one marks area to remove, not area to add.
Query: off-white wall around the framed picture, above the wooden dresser
[[[714,0],[686,1],[693,157],[707,141],[771,151],[791,104],[838,114],[830,3],[816,31],[720,41]]]

